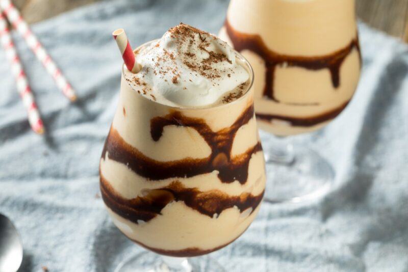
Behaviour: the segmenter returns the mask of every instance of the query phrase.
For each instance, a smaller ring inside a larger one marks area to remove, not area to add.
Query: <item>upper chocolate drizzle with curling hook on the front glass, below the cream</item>
[[[234,157],[231,157],[231,149],[238,129],[248,123],[253,118],[253,114],[253,105],[250,105],[231,127],[217,132],[212,131],[205,120],[186,117],[176,111],[150,120],[150,134],[154,141],[160,140],[165,126],[175,125],[195,129],[211,148],[211,155],[207,158],[157,161],[127,144],[113,128],[105,142],[102,158],[105,158],[108,152],[110,159],[121,162],[138,175],[150,180],[189,178],[217,170],[221,182],[231,183],[238,180],[244,184],[248,178],[249,160],[252,154],[262,150],[261,143],[258,142],[243,154]]]

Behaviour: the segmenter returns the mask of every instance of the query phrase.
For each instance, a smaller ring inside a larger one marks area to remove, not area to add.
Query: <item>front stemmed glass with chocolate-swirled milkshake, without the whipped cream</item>
[[[237,61],[250,73],[248,90],[205,108],[148,99],[122,69],[119,105],[100,159],[100,189],[114,224],[148,251],[116,271],[222,271],[208,257],[187,257],[225,247],[254,220],[265,191],[265,162],[253,72],[238,52]]]

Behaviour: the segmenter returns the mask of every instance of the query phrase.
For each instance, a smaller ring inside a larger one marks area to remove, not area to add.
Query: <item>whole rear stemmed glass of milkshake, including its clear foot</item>
[[[265,199],[323,196],[334,170],[290,135],[327,125],[350,102],[361,54],[354,0],[231,0],[219,37],[251,63],[268,175]]]

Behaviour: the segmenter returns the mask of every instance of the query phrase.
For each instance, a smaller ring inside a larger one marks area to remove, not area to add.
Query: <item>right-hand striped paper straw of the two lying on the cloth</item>
[[[10,0],[0,0],[0,8],[6,14],[9,21],[14,25],[14,28],[24,37],[25,42],[27,42],[36,57],[44,65],[47,72],[54,77],[58,88],[60,88],[63,94],[71,101],[75,101],[77,96],[71,85],[62,75],[61,70],[58,69],[57,65],[45,51],[35,35],[31,32],[28,24],[23,20],[20,13]]]

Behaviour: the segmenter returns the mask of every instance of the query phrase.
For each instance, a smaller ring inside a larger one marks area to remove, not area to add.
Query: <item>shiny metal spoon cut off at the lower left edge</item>
[[[15,272],[22,261],[22,243],[13,223],[0,213],[0,272]]]

